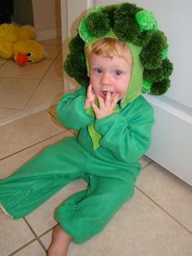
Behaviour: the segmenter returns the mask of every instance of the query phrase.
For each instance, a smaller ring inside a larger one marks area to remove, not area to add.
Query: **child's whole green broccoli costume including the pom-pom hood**
[[[93,110],[84,107],[89,84],[84,47],[99,38],[126,42],[133,55],[133,70],[118,111],[96,120]],[[168,89],[172,64],[165,57],[167,48],[164,33],[149,11],[129,3],[90,11],[69,44],[71,52],[64,64],[81,89],[65,94],[57,107],[59,121],[78,130],[78,135],[47,147],[0,181],[2,210],[12,218],[22,218],[67,183],[85,179],[87,189],[59,205],[55,219],[76,243],[101,232],[133,196],[141,170],[139,159],[150,147],[154,123],[151,105],[141,94],[143,90],[160,95]]]

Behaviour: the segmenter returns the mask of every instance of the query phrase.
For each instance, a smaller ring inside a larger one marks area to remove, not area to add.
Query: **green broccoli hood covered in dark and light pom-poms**
[[[69,42],[70,53],[63,65],[81,86],[89,85],[85,47],[101,38],[125,42],[133,56],[132,77],[122,108],[142,92],[163,95],[168,90],[172,73],[172,63],[167,58],[168,42],[151,11],[129,2],[89,11],[81,20],[76,37]]]

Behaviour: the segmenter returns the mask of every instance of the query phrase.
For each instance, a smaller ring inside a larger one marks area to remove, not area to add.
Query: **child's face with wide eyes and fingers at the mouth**
[[[123,57],[103,57],[92,53],[89,56],[89,78],[96,95],[106,98],[107,91],[111,99],[119,94],[122,99],[126,94],[132,72],[132,55],[130,61]]]

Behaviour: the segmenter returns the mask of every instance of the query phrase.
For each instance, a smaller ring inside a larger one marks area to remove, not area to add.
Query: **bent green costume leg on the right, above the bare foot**
[[[68,198],[55,212],[63,230],[77,244],[101,232],[116,211],[133,196],[133,183],[90,176],[87,190]]]

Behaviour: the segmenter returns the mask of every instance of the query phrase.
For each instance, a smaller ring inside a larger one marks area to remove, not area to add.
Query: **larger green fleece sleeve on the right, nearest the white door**
[[[95,130],[103,135],[100,144],[109,149],[120,161],[137,161],[151,144],[151,126],[154,123],[153,110],[133,108],[122,115],[114,113],[95,121]]]

